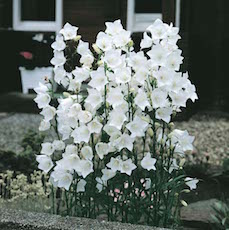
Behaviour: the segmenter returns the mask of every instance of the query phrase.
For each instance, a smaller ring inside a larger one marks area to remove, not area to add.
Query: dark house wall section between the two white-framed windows
[[[127,0],[65,0],[64,23],[77,25],[82,39],[95,42],[106,21],[121,19],[126,25]]]

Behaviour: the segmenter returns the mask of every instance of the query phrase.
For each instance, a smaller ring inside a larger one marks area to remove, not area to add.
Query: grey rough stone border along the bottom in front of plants
[[[166,230],[150,226],[0,209],[1,230]],[[167,229],[168,230],[168,229]]]

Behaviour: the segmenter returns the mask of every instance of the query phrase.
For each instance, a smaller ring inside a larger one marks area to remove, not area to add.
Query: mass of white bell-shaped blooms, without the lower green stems
[[[70,190],[77,184],[81,192],[89,175],[100,192],[116,176],[125,175],[130,183],[137,170],[144,172],[140,179],[151,190],[157,171],[164,171],[167,183],[182,168],[194,140],[187,131],[172,130],[171,120],[187,100],[197,99],[188,74],[179,72],[178,28],[156,20],[144,33],[139,52],[120,20],[106,23],[93,52],[77,31],[67,23],[52,44],[54,81],[64,88],[58,106],[52,104],[52,82],[35,89],[44,117],[39,129],[53,126],[59,137],[42,144],[39,168],[50,172],[55,186]],[[69,61],[72,44],[78,66]],[[183,180],[195,188],[190,181]]]

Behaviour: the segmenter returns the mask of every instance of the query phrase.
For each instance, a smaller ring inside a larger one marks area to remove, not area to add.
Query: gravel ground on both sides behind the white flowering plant
[[[0,116],[0,149],[20,152],[20,142],[28,130],[38,132],[39,114],[5,114]],[[176,122],[176,128],[187,129],[195,138],[195,151],[189,155],[191,161],[219,164],[229,156],[229,119],[197,115],[189,121]]]

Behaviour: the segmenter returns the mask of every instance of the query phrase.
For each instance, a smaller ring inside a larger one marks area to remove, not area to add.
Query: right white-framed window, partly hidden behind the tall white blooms
[[[162,0],[128,0],[127,30],[144,31],[157,18],[162,19]]]

